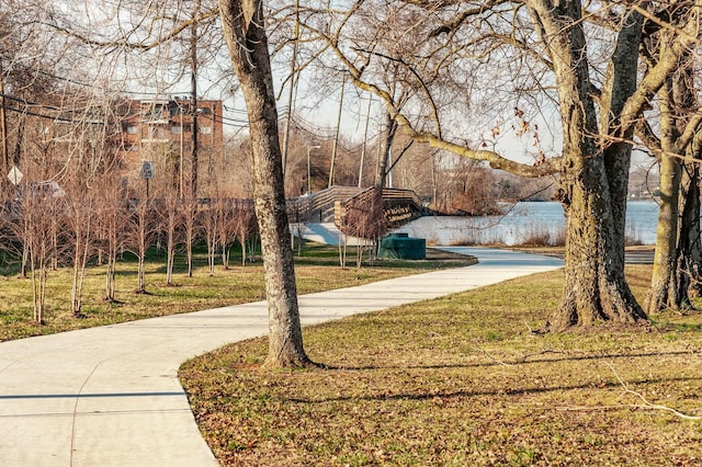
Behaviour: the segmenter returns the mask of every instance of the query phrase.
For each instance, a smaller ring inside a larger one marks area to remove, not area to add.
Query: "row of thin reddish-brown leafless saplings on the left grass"
[[[103,181],[100,190],[87,190],[81,183],[52,190],[37,184],[21,186],[24,189],[2,203],[0,246],[3,262],[20,264],[21,274],[31,278],[37,324],[45,321],[49,273],[58,267],[72,267],[70,311],[82,318],[87,269],[104,267],[103,297],[118,301],[116,271],[125,253],[136,258],[136,263],[122,264],[135,264],[137,294],[148,293],[146,261],[150,249],[166,253],[167,285],[174,285],[178,253],[184,254],[185,274],[193,275],[193,248],[197,244],[206,244],[210,275],[215,274],[217,257],[229,267],[235,244],[240,248],[242,265],[253,258],[258,230],[250,200],[180,198],[176,190],[145,196],[144,191],[129,192],[118,180]]]

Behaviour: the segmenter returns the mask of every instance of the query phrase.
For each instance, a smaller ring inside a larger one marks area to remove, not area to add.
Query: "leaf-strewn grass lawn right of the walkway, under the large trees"
[[[630,266],[639,299],[650,266]],[[186,363],[224,465],[702,465],[702,316],[534,335],[562,272],[305,330],[329,366],[263,371],[265,339]],[[699,304],[702,305],[702,304]]]

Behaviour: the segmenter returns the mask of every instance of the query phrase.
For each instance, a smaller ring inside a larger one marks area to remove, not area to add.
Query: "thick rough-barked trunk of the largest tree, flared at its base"
[[[566,214],[563,301],[547,329],[559,331],[596,321],[634,322],[645,318],[624,278],[622,171],[627,161],[607,163],[590,93],[581,5],[531,2],[542,39],[548,44],[557,78],[563,124],[562,202]],[[616,78],[613,78],[616,81]],[[608,96],[611,101],[621,98]],[[613,105],[614,106],[614,105]],[[626,148],[618,152],[626,155]],[[610,173],[608,173],[610,169]],[[610,180],[612,178],[612,180]]]

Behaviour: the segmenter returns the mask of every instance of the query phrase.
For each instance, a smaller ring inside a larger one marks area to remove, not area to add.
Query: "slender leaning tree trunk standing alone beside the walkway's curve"
[[[249,116],[253,197],[269,308],[269,353],[264,364],[307,366],[312,363],[303,349],[262,3],[260,0],[219,0],[219,9],[231,65]]]

